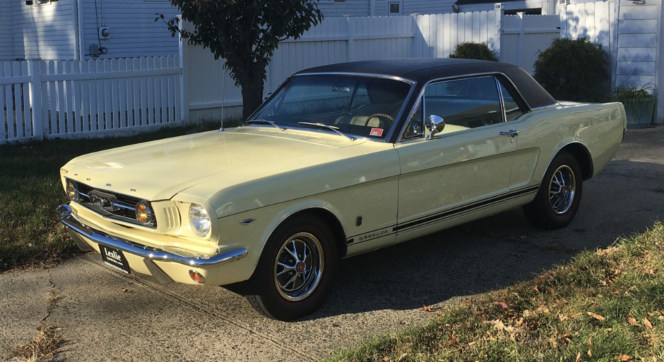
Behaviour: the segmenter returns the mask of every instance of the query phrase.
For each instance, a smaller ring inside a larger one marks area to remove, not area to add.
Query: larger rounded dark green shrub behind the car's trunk
[[[533,76],[555,99],[601,102],[610,89],[609,56],[585,37],[555,39],[540,52]]]

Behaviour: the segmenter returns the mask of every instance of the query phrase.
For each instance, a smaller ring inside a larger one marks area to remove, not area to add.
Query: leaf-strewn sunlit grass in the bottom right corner
[[[664,361],[664,225],[328,361]]]

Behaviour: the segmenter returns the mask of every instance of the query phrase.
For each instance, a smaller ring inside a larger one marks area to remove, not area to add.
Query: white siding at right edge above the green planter
[[[615,84],[656,84],[660,2],[619,0]]]

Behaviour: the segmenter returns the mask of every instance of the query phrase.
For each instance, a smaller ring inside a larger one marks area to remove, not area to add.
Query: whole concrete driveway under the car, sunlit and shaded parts
[[[460,298],[499,289],[664,219],[664,127],[629,131],[585,183],[574,223],[541,231],[521,210],[343,260],[325,305],[297,322],[261,317],[224,288],[127,277],[90,253],[49,270],[0,274],[0,360],[42,320],[66,361],[299,361],[426,322]],[[50,313],[49,290],[59,291]]]

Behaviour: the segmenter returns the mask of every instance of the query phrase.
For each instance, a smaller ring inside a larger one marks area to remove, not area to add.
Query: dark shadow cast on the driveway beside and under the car
[[[662,164],[617,160],[584,183],[579,213],[564,229],[535,229],[519,208],[345,259],[328,301],[304,320],[422,308],[528,279],[663,219],[662,179]]]

